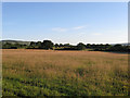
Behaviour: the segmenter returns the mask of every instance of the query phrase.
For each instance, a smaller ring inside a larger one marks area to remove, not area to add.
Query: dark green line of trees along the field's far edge
[[[51,40],[43,41],[31,41],[29,45],[22,44],[10,44],[5,42],[2,45],[2,49],[46,49],[46,50],[92,50],[92,51],[130,51],[130,46],[122,46],[120,44],[109,45],[109,44],[87,44],[79,42],[76,46],[69,44],[53,44]]]

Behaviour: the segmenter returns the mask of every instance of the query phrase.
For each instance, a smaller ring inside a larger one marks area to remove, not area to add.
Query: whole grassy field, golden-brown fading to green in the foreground
[[[2,50],[3,96],[128,96],[128,54]]]

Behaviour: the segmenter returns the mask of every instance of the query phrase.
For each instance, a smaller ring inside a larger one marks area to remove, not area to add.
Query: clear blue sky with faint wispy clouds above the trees
[[[4,2],[2,39],[73,44],[128,41],[127,2]]]

